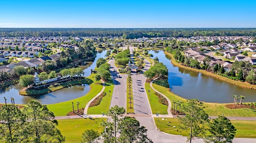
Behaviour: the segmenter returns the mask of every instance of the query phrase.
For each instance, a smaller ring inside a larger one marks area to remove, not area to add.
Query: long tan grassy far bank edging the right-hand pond
[[[164,51],[164,54],[165,55],[168,55],[170,56],[171,58],[173,58],[173,55],[171,53],[168,53],[167,51]],[[177,63],[175,60],[171,60],[171,63],[172,65],[176,66],[176,67],[180,67],[182,69],[187,69],[187,70],[190,70],[190,71],[194,71],[194,72],[199,72],[201,74],[205,74],[207,76],[211,76],[213,78],[217,78],[217,79],[220,79],[224,82],[228,82],[228,83],[231,83],[231,84],[234,84],[234,85],[237,85],[237,86],[240,86],[242,88],[248,88],[248,89],[254,89],[256,90],[256,85],[252,85],[252,84],[247,84],[246,82],[240,82],[240,81],[232,81],[231,79],[229,78],[226,78],[224,76],[220,76],[218,74],[215,74],[215,73],[211,73],[211,72],[207,72],[207,71],[204,71],[204,70],[199,70],[199,69],[193,69],[191,67],[186,67],[184,65],[180,65],[179,63]]]

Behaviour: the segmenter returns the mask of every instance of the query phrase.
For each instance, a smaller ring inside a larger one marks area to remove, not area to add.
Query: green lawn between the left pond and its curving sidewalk
[[[77,101],[80,102],[79,108],[85,108],[86,104],[102,90],[102,84],[97,84],[94,76],[95,74],[91,74],[87,77],[93,83],[90,84],[91,89],[85,96],[57,104],[48,104],[49,110],[54,112],[55,116],[66,116],[68,112],[72,111],[72,102],[76,103]]]

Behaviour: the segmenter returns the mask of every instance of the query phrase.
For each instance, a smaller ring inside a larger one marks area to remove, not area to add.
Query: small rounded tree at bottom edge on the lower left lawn
[[[94,131],[93,129],[87,129],[86,131],[84,131],[84,133],[82,133],[81,143],[92,143],[92,141],[94,141],[94,139],[99,136],[100,134],[98,133],[98,131]]]

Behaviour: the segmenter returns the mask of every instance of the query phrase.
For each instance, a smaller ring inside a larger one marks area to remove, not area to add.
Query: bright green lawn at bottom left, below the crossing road
[[[106,118],[104,118],[106,121]],[[100,125],[102,118],[93,119],[60,119],[57,128],[60,129],[62,135],[66,137],[64,143],[80,143],[82,133],[87,129],[94,129],[98,133],[104,131],[104,127]]]

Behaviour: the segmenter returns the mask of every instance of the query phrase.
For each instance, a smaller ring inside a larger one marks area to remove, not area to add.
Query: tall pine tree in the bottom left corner
[[[4,105],[0,108],[0,140],[6,143],[19,143],[27,138],[23,128],[26,115],[15,105]]]

